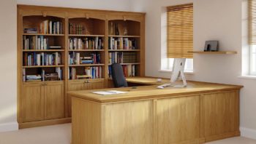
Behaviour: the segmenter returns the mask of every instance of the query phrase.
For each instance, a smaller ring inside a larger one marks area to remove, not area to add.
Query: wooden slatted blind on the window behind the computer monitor
[[[193,4],[167,7],[167,57],[192,58]]]

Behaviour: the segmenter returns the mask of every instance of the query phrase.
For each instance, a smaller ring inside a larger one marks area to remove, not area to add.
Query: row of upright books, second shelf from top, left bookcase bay
[[[49,49],[48,40],[44,36],[23,36],[23,49]]]

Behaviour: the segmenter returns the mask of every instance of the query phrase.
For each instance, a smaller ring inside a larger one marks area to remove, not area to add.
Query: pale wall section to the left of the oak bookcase
[[[17,124],[17,24],[16,1],[0,4],[0,132],[18,129]]]

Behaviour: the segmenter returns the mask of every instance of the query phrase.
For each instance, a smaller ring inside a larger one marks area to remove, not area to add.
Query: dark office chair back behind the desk
[[[115,87],[128,87],[123,68],[119,63],[113,63],[111,65],[111,76]]]

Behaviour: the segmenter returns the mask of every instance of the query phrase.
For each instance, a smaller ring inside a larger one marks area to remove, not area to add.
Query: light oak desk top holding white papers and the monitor
[[[134,77],[127,78],[128,82],[137,84],[148,84],[148,86],[139,87],[122,87],[109,89],[93,89],[68,92],[72,97],[79,97],[85,100],[91,100],[97,103],[113,103],[129,100],[146,100],[158,99],[162,97],[177,97],[182,95],[197,95],[209,92],[222,92],[228,90],[239,90],[242,86],[229,84],[213,84],[207,82],[188,81],[187,87],[165,87],[165,89],[157,89],[158,85],[168,83],[168,79],[162,79],[162,82],[157,82],[157,78],[149,77]],[[91,92],[119,90],[127,92],[118,95],[97,95]]]

